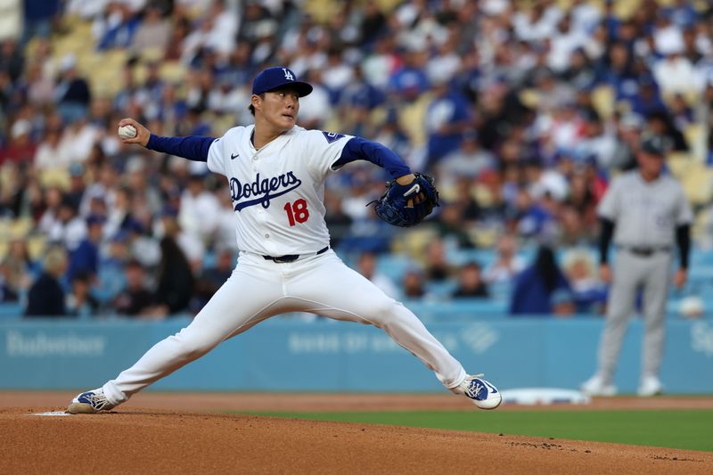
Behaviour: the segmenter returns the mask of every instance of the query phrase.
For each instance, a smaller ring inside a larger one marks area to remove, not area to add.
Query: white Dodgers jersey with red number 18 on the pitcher
[[[323,249],[324,179],[352,136],[292,127],[256,150],[254,128],[231,128],[208,153],[208,168],[230,185],[238,249],[264,256]]]

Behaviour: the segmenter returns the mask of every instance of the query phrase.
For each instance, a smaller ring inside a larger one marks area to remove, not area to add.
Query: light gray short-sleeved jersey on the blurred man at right
[[[614,179],[598,214],[616,225],[614,242],[619,246],[671,246],[676,227],[693,220],[676,178],[662,175],[647,183],[637,170]]]

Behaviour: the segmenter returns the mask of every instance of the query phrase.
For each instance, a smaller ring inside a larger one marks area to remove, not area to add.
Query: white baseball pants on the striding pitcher
[[[291,263],[241,252],[233,274],[193,322],[104,384],[104,395],[112,404],[121,404],[221,341],[271,316],[295,311],[383,329],[433,370],[447,389],[454,389],[466,377],[463,366],[409,309],[346,266],[332,250]]]

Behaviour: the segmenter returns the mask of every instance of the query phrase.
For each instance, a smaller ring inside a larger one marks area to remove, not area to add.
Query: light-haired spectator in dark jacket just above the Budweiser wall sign
[[[42,274],[29,289],[25,316],[64,316],[64,290],[59,281],[67,269],[67,254],[61,248],[52,248],[45,254]]]

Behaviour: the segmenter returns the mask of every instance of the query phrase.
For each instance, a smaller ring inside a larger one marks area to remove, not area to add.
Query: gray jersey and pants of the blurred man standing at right
[[[631,171],[614,179],[598,214],[614,223],[614,243],[619,250],[600,341],[598,373],[611,383],[635,310],[636,292],[643,289],[642,376],[658,377],[676,227],[691,223],[691,207],[674,177],[662,175],[647,183],[638,171]]]

